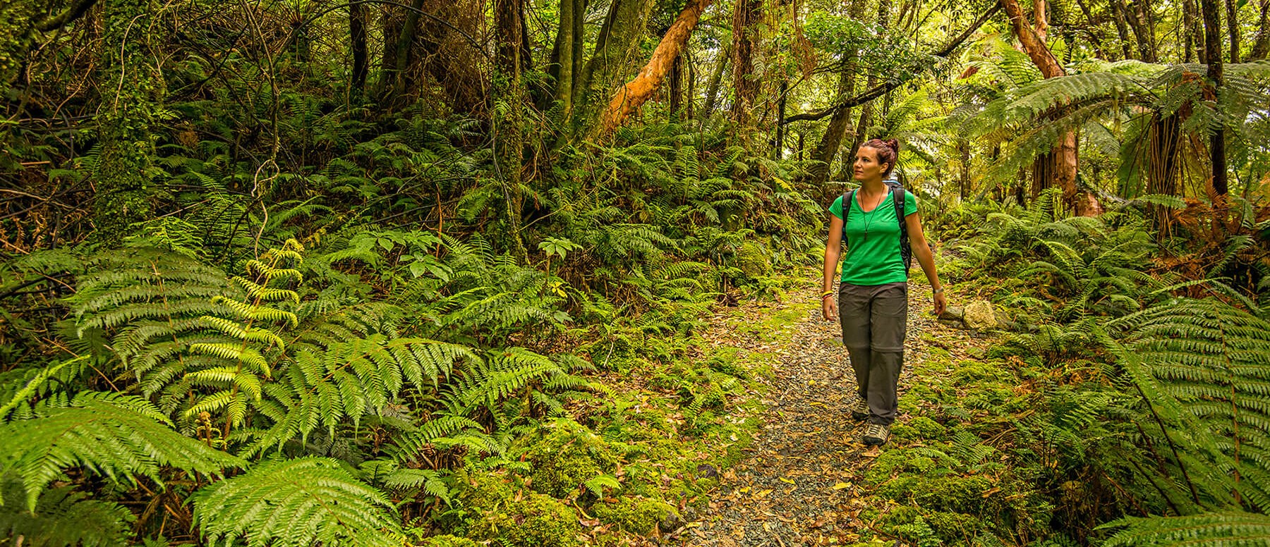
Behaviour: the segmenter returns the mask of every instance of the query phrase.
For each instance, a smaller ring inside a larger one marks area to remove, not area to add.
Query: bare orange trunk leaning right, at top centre
[[[596,136],[605,136],[617,128],[617,126],[621,126],[632,112],[640,108],[662,86],[662,80],[665,79],[676,60],[679,58],[679,52],[683,51],[688,37],[692,36],[692,29],[696,28],[697,20],[701,19],[701,11],[705,11],[711,1],[688,0],[688,5],[683,8],[683,11],[679,11],[679,16],[674,19],[665,36],[662,37],[662,42],[653,51],[653,57],[639,71],[639,75],[608,99],[608,108],[601,115],[599,131]]]

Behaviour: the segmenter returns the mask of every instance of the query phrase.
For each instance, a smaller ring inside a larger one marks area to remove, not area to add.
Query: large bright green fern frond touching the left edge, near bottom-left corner
[[[81,393],[69,407],[37,409],[36,418],[0,426],[0,476],[15,473],[28,509],[66,467],[83,467],[133,484],[163,484],[163,468],[218,476],[244,462],[184,437],[152,405],[117,393]]]

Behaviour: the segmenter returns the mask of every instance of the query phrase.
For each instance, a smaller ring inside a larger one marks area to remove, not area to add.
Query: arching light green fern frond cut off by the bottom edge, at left
[[[194,524],[211,544],[250,547],[400,546],[382,492],[330,458],[267,461],[196,491]]]

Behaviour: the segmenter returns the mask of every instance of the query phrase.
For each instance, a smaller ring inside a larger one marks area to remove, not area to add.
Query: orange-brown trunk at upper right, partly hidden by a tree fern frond
[[[1001,0],[1001,6],[1006,10],[1006,14],[1010,18],[1011,28],[1019,38],[1024,52],[1026,52],[1027,57],[1033,60],[1033,63],[1040,69],[1041,75],[1046,79],[1066,76],[1067,72],[1063,70],[1063,66],[1058,63],[1058,60],[1054,58],[1049,47],[1046,47],[1036,33],[1027,25],[1027,20],[1024,18],[1024,11],[1019,6],[1019,1]],[[1052,152],[1053,171],[1046,171],[1053,174],[1053,181],[1063,189],[1063,201],[1068,207],[1073,208],[1077,214],[1099,214],[1102,212],[1102,208],[1097,199],[1090,193],[1081,192],[1076,185],[1077,152],[1076,132],[1068,131],[1059,137],[1059,141]],[[1048,178],[1045,185],[1049,185]]]

